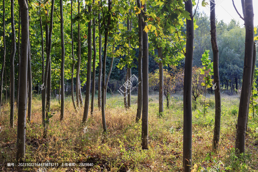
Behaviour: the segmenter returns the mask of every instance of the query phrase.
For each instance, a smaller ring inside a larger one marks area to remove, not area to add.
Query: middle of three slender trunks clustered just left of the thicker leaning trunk
[[[78,0],[78,15],[80,14],[80,3],[81,1]],[[76,102],[77,108],[80,110],[80,98],[79,98],[79,87],[80,82],[80,65],[81,65],[81,34],[80,34],[80,23],[78,22],[78,61],[77,61],[77,72],[76,72]]]

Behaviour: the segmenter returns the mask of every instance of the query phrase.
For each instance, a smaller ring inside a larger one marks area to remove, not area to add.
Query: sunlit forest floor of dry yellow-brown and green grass
[[[171,97],[169,109],[164,97],[164,114],[158,115],[158,93],[149,95],[149,146],[141,149],[141,121],[135,122],[137,96],[132,96],[132,107],[125,110],[123,97],[109,95],[105,110],[107,134],[103,135],[101,111],[97,109],[87,123],[82,124],[83,108],[76,112],[71,97],[65,99],[65,115],[60,119],[58,100],[52,99],[48,126],[48,137],[42,137],[41,96],[32,100],[32,121],[26,124],[26,161],[32,163],[59,163],[58,167],[17,167],[15,163],[17,112],[15,127],[9,127],[9,103],[4,103],[1,113],[0,171],[182,171],[183,150],[183,101],[182,95]],[[258,170],[258,116],[249,120],[246,134],[246,161],[234,156],[236,122],[239,96],[222,95],[222,116],[220,144],[218,152],[212,153],[214,128],[214,96],[206,98],[207,114],[203,115],[204,97],[197,101],[193,110],[192,162],[193,168],[217,171],[212,167],[217,163],[220,171]],[[252,114],[250,115],[252,116]],[[7,162],[15,167],[7,167]],[[75,162],[84,167],[60,167],[60,163]],[[86,164],[85,164],[86,163]],[[195,165],[194,165],[195,164]],[[30,165],[30,164],[27,164]],[[56,165],[56,164],[54,164]],[[217,166],[216,166],[217,167]],[[229,167],[229,168],[227,168]],[[197,170],[196,169],[196,170]],[[194,169],[192,170],[194,171]],[[200,171],[200,170],[199,170]]]

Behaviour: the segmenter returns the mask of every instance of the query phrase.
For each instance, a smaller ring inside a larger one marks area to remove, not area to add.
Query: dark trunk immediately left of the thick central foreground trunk
[[[137,0],[137,7],[141,8],[141,1]],[[138,98],[137,98],[137,112],[136,122],[141,118],[142,113],[142,14],[138,14],[138,27],[139,27],[139,56],[138,56]]]

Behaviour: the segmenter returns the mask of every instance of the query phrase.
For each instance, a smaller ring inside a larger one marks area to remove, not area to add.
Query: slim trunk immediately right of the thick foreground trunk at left
[[[31,122],[31,104],[32,104],[32,76],[31,76],[31,56],[30,56],[30,38],[28,51],[28,121]]]

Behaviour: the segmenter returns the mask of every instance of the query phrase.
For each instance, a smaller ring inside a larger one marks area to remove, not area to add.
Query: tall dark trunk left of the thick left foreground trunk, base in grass
[[[11,54],[11,85],[10,85],[10,127],[14,128],[14,56],[16,52],[16,42],[15,42],[15,25],[14,25],[14,0],[11,0],[11,27],[12,27],[12,54]],[[2,96],[2,95],[1,95]]]

